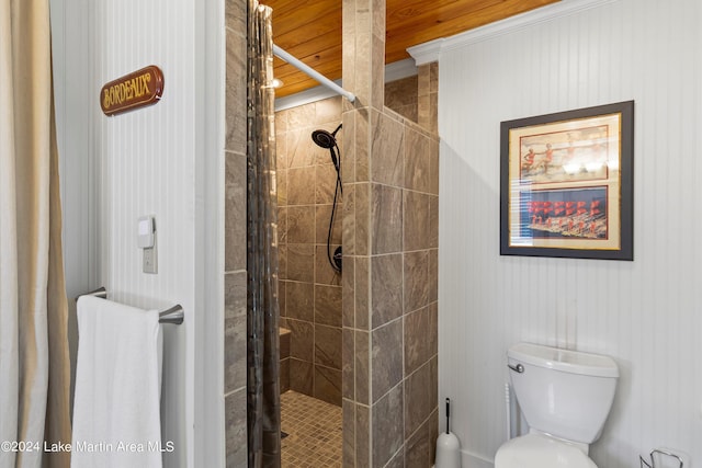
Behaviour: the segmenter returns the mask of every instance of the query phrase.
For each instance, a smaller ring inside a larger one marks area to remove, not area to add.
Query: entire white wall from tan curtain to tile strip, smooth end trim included
[[[183,307],[182,326],[163,326],[169,467],[224,464],[222,392],[208,390],[224,367],[223,11],[217,0],[52,1],[67,286]],[[101,87],[148,65],[163,71],[162,99],[102,114]],[[158,274],[141,271],[144,215],[156,219]]]

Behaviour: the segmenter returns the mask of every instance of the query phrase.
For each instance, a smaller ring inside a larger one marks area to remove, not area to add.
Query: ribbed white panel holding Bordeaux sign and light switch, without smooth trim
[[[137,10],[139,14],[134,15]],[[168,21],[155,21],[166,11]],[[98,96],[105,82],[147,65],[158,66],[165,76],[163,95],[156,105],[115,117],[99,115],[95,124],[102,161],[103,283],[115,300],[158,308],[178,303],[185,311],[183,326],[166,327],[163,332],[161,415],[163,441],[172,441],[176,447],[165,459],[173,466],[186,466],[192,457],[194,421],[193,18],[190,0],[95,5],[100,26],[94,37],[92,94]],[[141,215],[156,218],[157,275],[141,272],[135,238],[135,221]]]

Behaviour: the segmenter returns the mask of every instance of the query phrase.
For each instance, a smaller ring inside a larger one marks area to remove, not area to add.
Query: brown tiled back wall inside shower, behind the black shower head
[[[341,98],[275,115],[281,326],[291,330],[290,388],[341,406],[341,275],[327,260],[337,173],[312,140],[341,123]],[[343,130],[337,134],[341,147]],[[344,155],[341,155],[344,158]],[[331,251],[341,244],[339,195]]]

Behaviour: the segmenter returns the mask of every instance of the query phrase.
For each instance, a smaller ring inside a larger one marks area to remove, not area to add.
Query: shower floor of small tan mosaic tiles
[[[288,390],[281,395],[282,466],[340,467],[341,408]]]

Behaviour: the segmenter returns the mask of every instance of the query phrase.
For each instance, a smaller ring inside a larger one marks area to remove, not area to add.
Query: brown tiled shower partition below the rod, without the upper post
[[[439,140],[390,110],[370,115],[370,182],[351,184],[354,213],[344,225],[344,236],[356,219],[369,225],[367,250],[347,262],[355,277],[344,295],[353,309],[344,311],[353,319],[343,330],[344,379],[353,384],[343,386],[343,404],[354,419],[344,430],[355,448],[344,466],[428,467],[438,435]]]

